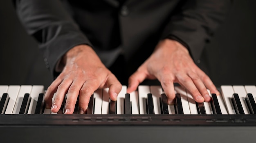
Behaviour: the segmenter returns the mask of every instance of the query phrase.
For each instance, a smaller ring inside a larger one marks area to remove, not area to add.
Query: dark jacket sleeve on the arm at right
[[[225,19],[230,5],[231,0],[186,0],[170,17],[162,38],[182,43],[196,61],[218,24]]]

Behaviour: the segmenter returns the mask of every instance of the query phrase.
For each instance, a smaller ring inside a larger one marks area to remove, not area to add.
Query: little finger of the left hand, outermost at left
[[[49,109],[52,106],[52,97],[54,95],[54,93],[56,93],[57,89],[58,89],[58,85],[60,85],[60,83],[62,82],[62,80],[60,78],[56,78],[56,80],[54,80],[52,82],[52,84],[47,88],[47,91],[45,93],[45,108]]]

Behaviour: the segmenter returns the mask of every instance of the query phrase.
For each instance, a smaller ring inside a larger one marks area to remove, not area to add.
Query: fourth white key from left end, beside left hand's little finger
[[[38,101],[38,95],[40,93],[44,93],[44,86],[43,85],[33,85],[32,90],[30,93],[30,104],[27,114],[34,114],[36,111],[36,104]]]

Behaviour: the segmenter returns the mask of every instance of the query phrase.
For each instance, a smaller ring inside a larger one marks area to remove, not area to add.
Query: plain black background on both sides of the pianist
[[[256,85],[256,0],[234,0],[226,21],[204,51],[216,86]],[[20,24],[11,0],[0,0],[0,85],[52,82],[36,42]]]

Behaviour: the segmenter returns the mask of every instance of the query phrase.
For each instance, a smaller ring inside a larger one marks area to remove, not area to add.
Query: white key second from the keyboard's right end
[[[249,114],[247,104],[245,102],[245,98],[247,95],[247,93],[245,91],[245,87],[244,86],[233,86],[233,89],[234,89],[234,92],[237,93],[240,98],[240,102],[242,104],[245,114]]]

